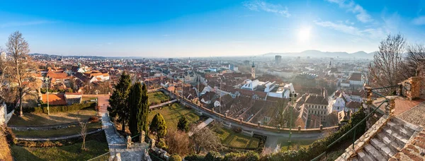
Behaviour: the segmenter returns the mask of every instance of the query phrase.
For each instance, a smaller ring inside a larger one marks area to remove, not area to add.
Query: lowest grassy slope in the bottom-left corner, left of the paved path
[[[89,160],[98,155],[107,153],[108,143],[98,141],[86,141],[88,150],[82,151],[81,143],[65,145],[55,148],[26,148],[12,145],[12,155],[16,160]]]

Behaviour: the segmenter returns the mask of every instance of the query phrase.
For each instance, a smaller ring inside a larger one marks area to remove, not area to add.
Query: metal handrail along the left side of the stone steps
[[[381,105],[383,105],[385,102],[389,102],[389,100],[387,99],[387,97],[385,97],[384,95],[382,95],[382,94],[380,94],[378,92],[375,92],[373,90],[380,90],[380,89],[385,89],[385,88],[395,88],[395,87],[399,87],[399,85],[391,85],[391,86],[382,87],[382,88],[372,88],[371,89],[371,92],[374,93],[374,94],[376,94],[376,95],[379,95],[380,97],[384,97],[385,98],[385,101],[381,102],[381,104],[378,107],[376,107],[375,109],[373,109],[372,112],[370,112],[365,118],[363,118],[360,122],[358,122],[355,126],[353,126],[353,128],[351,128],[349,131],[347,131],[346,133],[344,133],[344,135],[342,135],[341,137],[339,137],[338,139],[336,139],[336,141],[332,142],[331,144],[327,145],[327,148],[326,148],[326,150],[324,150],[324,153],[320,154],[317,157],[314,157],[314,159],[312,159],[312,161],[319,160],[321,157],[323,157],[323,155],[327,155],[327,150],[329,148],[331,148],[332,145],[334,145],[337,142],[341,141],[341,139],[344,138],[344,137],[346,137],[348,135],[348,133],[351,133],[351,131],[354,131],[353,132],[353,148],[354,148],[354,143],[356,142],[356,129],[357,129],[357,127],[360,126],[360,124],[362,124],[363,121],[366,121],[366,119],[368,119],[372,114],[374,114],[376,112],[376,110],[380,108]]]

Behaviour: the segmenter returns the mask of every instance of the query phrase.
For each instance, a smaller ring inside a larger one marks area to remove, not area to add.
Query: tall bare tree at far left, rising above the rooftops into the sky
[[[33,69],[30,56],[28,56],[30,47],[19,31],[13,32],[8,37],[6,47],[7,52],[11,54],[11,66],[7,72],[10,83],[16,84],[13,86],[18,89],[20,116],[22,117],[23,97],[30,91],[31,83],[34,82],[31,81],[32,76],[30,75],[30,71]]]

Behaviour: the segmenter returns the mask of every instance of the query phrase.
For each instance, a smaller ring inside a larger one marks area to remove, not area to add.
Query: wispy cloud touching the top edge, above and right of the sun
[[[357,20],[360,20],[362,23],[367,23],[373,21],[373,18],[368,14],[368,12],[360,5],[356,4],[354,1],[346,0],[327,0],[331,3],[338,4],[339,7],[345,8],[347,11],[351,11],[356,14]]]

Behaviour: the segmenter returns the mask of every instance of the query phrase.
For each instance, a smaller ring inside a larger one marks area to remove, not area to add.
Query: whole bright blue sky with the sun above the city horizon
[[[1,1],[0,46],[16,30],[46,54],[373,52],[390,32],[424,43],[425,1]]]

